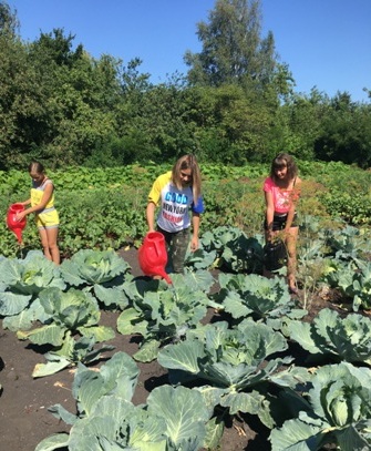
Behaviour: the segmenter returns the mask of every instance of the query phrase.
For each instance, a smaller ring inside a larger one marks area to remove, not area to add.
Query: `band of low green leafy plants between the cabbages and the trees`
[[[146,233],[146,196],[153,180],[171,164],[126,165],[109,168],[71,167],[50,172],[55,184],[55,204],[61,216],[60,248],[68,257],[81,248],[120,249],[138,246]],[[249,235],[261,232],[262,181],[269,167],[261,164],[233,167],[203,164],[206,213],[202,232],[218,226],[240,227]],[[326,226],[340,218],[351,225],[371,223],[371,173],[341,163],[299,162],[303,178],[299,214],[315,215]],[[2,172],[0,211],[6,218],[13,202],[29,197],[27,172]],[[22,252],[14,235],[0,223],[0,254]],[[40,248],[39,236],[29,217],[23,247]]]

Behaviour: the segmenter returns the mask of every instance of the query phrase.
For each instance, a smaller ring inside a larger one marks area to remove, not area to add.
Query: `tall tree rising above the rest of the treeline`
[[[214,85],[271,81],[276,68],[271,32],[261,39],[260,0],[217,0],[208,23],[197,24],[200,53],[187,51],[193,84]]]

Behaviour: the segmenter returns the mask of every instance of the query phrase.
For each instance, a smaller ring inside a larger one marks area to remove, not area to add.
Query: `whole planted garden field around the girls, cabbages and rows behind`
[[[38,388],[43,400],[34,443],[20,428],[19,449],[370,449],[371,173],[299,168],[296,297],[285,268],[261,275],[262,166],[203,167],[200,248],[172,285],[144,277],[135,250],[164,167],[50,174],[62,264],[43,258],[32,219],[23,247],[2,230],[2,339],[32,368],[13,377],[16,356],[0,351],[0,401],[16,423],[7,391],[16,402],[14,386]],[[3,180],[1,202],[27,197],[27,174]]]

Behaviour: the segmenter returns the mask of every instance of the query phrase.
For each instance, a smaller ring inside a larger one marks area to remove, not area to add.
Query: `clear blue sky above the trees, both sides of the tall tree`
[[[371,0],[260,0],[262,37],[272,31],[280,61],[289,65],[296,91],[313,86],[330,96],[348,91],[368,101],[371,90]],[[54,28],[75,35],[94,58],[109,53],[124,64],[138,57],[142,72],[157,83],[186,73],[186,50],[200,51],[197,22],[215,0],[8,0],[17,9],[20,34],[33,41]]]

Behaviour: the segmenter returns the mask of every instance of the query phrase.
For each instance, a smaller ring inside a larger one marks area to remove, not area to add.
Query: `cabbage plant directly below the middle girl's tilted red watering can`
[[[141,349],[134,355],[136,360],[155,359],[161,346],[182,339],[206,316],[206,293],[214,283],[210,274],[174,274],[172,280],[172,286],[158,280],[135,280],[132,289],[127,288],[132,307],[120,315],[117,330],[143,336]]]

